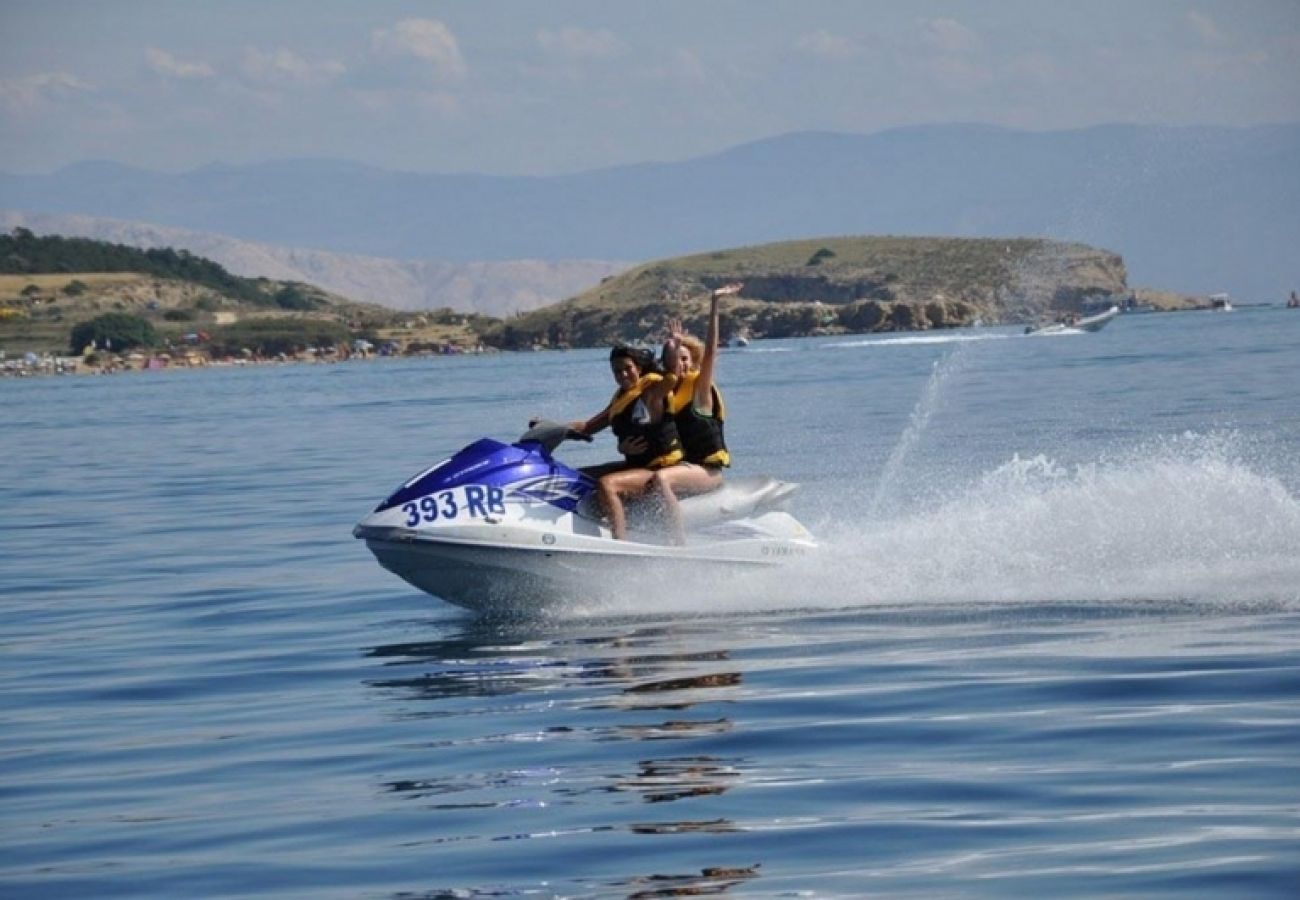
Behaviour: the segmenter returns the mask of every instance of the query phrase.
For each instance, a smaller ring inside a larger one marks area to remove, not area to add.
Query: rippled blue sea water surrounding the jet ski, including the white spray
[[[1294,897],[1297,375],[1280,308],[759,342],[826,553],[521,622],[350,529],[602,352],[0,382],[0,895]]]

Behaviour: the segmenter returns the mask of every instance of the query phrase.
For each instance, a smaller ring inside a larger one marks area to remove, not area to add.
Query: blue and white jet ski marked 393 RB
[[[602,522],[595,481],[555,458],[592,438],[541,421],[514,443],[480,438],[419,472],[352,529],[380,564],[416,588],[476,611],[540,611],[566,600],[682,577],[762,570],[816,549],[784,510],[798,485],[728,479],[681,499],[686,545],[671,542],[649,501],[628,506],[628,538]]]

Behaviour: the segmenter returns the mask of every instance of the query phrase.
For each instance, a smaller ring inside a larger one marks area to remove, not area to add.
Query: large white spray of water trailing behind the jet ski
[[[940,378],[941,381],[941,378]],[[937,389],[936,389],[937,393]],[[924,509],[840,522],[789,568],[656,594],[710,614],[922,605],[1300,610],[1300,494],[1235,434],[1184,434],[1083,466],[1013,457]],[[1292,483],[1294,484],[1294,483]],[[644,613],[610,597],[599,613]]]

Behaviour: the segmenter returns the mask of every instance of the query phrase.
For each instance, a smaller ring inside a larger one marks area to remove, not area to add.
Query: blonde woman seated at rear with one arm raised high
[[[664,367],[675,380],[668,395],[668,414],[677,427],[685,459],[656,470],[651,486],[663,501],[668,525],[677,544],[686,542],[679,497],[706,494],[723,485],[723,470],[731,454],[723,436],[725,410],[714,384],[718,360],[718,302],[740,293],[742,285],[724,285],[708,295],[708,329],[705,342],[685,334],[680,321],[668,323],[668,342],[663,347]]]

